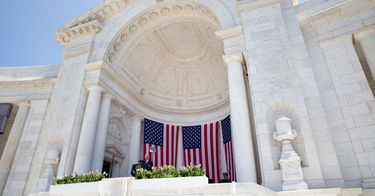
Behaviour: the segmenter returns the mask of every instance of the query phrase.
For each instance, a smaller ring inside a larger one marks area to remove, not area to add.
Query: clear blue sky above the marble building
[[[52,34],[101,1],[0,0],[0,67],[61,63],[64,47]]]

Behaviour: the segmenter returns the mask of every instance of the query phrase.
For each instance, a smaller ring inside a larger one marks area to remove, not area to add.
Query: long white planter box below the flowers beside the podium
[[[133,180],[132,190],[205,187],[207,184],[208,178],[205,176],[140,179]]]

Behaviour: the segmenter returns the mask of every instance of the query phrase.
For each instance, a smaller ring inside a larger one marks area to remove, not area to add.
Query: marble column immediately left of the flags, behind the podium
[[[143,117],[132,116],[132,130],[130,132],[129,166],[128,174],[132,172],[132,165],[139,161],[139,144],[141,143],[141,122]]]

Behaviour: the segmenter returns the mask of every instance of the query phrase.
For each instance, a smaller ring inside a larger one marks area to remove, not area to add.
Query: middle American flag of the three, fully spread
[[[184,165],[201,164],[214,183],[220,179],[218,128],[219,122],[182,127]]]

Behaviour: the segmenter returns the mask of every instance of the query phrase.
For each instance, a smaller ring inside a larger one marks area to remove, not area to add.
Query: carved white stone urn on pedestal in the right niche
[[[296,130],[292,129],[291,121],[285,116],[279,116],[275,121],[276,132],[273,133],[273,138],[282,143],[279,164],[284,181],[283,191],[309,189],[303,178],[301,158],[291,144],[291,140],[297,137]]]

